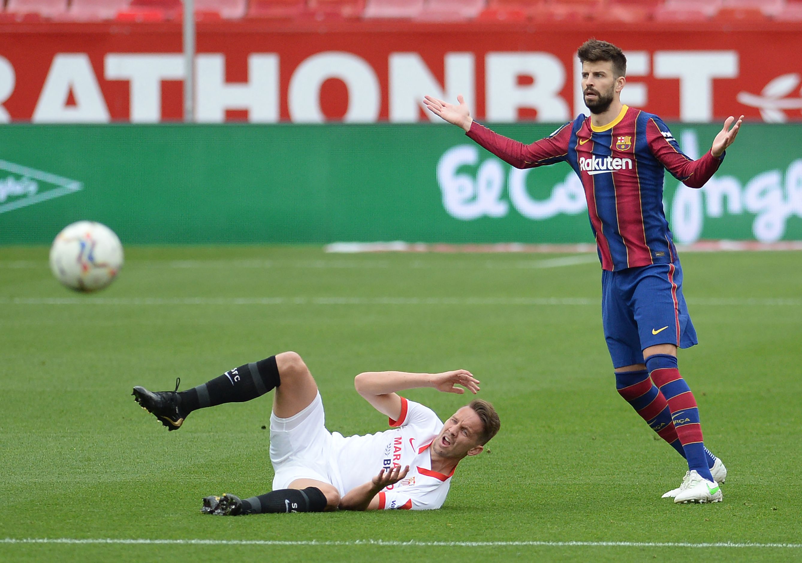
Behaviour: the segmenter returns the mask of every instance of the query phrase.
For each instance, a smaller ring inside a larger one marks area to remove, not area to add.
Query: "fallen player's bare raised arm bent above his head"
[[[401,415],[401,397],[398,391],[431,387],[447,393],[474,395],[479,391],[479,380],[465,369],[442,373],[364,372],[354,378],[354,388],[377,411],[398,420]]]

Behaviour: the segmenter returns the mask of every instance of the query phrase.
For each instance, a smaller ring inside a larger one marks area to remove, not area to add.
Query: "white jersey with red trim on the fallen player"
[[[379,509],[431,510],[443,506],[451,486],[450,475],[431,470],[429,446],[443,429],[431,408],[401,397],[399,420],[390,430],[365,436],[334,436],[333,459],[340,477],[340,493],[371,481],[382,468],[409,465],[407,477],[379,493]]]

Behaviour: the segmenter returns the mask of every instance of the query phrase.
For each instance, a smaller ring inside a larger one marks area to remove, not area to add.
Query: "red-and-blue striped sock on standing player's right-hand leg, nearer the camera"
[[[666,397],[674,429],[685,450],[688,470],[695,470],[700,476],[713,481],[702,437],[702,424],[699,422],[699,408],[691,388],[679,375],[677,358],[669,354],[654,354],[646,359],[646,368],[654,384]]]

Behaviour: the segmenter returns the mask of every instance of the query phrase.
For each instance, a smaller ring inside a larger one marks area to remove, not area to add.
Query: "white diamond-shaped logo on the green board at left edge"
[[[83,183],[0,160],[0,213],[71,194]]]

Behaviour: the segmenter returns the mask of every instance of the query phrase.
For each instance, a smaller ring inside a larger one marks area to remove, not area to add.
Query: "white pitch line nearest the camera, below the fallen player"
[[[379,545],[384,547],[654,547],[654,548],[776,548],[800,549],[802,544],[751,543],[751,542],[706,542],[680,541],[282,541],[282,540],[144,540],[116,538],[71,538],[71,537],[6,537],[4,544],[122,544],[122,545],[298,545],[298,546],[349,546]]]

